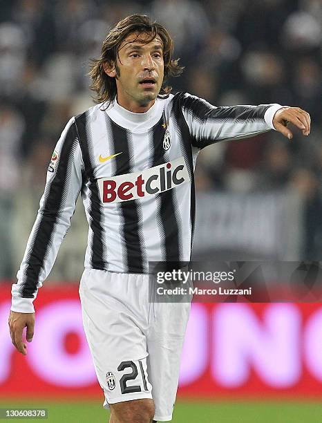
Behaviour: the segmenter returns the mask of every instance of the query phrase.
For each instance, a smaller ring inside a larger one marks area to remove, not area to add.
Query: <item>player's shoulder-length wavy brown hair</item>
[[[174,45],[167,29],[160,23],[150,21],[149,17],[146,15],[128,16],[118,22],[110,32],[108,32],[102,44],[101,57],[91,60],[91,70],[88,75],[92,79],[90,88],[96,93],[95,97],[93,97],[95,103],[107,102],[107,105],[109,105],[115,100],[117,94],[115,77],[106,75],[103,64],[108,63],[115,66],[117,76],[120,75],[120,70],[116,66],[118,51],[124,39],[132,33],[138,36],[142,33],[149,35],[149,37],[144,40],[140,39],[140,42],[144,44],[148,44],[156,36],[160,37],[162,40],[164,79],[159,95],[168,95],[171,92],[172,87],[165,86],[168,76],[176,77],[182,73],[184,66],[179,66],[179,59],[172,59]]]

